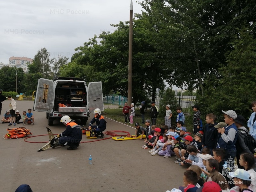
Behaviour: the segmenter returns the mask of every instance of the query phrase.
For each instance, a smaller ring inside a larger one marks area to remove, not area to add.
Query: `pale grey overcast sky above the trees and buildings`
[[[131,0],[12,0],[0,2],[0,62],[28,57],[45,47],[50,57],[71,58],[74,49],[110,24],[129,20]],[[133,13],[142,7],[133,0]],[[134,17],[134,14],[133,14]]]

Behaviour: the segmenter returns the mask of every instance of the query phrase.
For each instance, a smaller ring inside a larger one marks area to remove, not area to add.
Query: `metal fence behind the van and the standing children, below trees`
[[[176,100],[174,102],[177,103],[177,106],[182,107],[182,112],[185,115],[189,115],[190,114],[190,107],[193,106],[195,104],[196,101],[196,96],[180,96],[180,95],[176,95],[175,96]],[[152,98],[148,98],[149,100],[152,100]],[[159,108],[160,106],[160,101],[161,101],[162,97],[156,97],[156,106]],[[121,95],[117,95],[117,96],[113,96],[113,95],[109,95],[109,96],[105,96],[103,97],[103,102],[104,103],[109,103],[109,104],[113,104],[113,105],[121,105],[124,106],[124,103],[127,102],[127,97],[121,96]],[[168,103],[166,103],[167,105]],[[172,109],[172,110],[176,110],[176,109]]]

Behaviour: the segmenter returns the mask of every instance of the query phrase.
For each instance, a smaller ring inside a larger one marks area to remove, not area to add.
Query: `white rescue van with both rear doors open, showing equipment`
[[[83,78],[56,77],[53,81],[39,78],[33,110],[46,112],[48,125],[64,115],[81,119],[85,125],[96,108],[104,111],[101,82],[87,86]]]

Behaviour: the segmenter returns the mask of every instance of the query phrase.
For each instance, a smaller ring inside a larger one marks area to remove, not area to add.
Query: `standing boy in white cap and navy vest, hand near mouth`
[[[218,128],[219,136],[217,148],[226,149],[226,159],[230,157],[235,159],[236,157],[236,140],[237,140],[237,127],[235,119],[237,117],[236,112],[233,110],[222,111],[224,113],[224,121],[227,124],[225,127],[220,127],[220,123],[215,125]],[[220,129],[219,129],[220,128]]]

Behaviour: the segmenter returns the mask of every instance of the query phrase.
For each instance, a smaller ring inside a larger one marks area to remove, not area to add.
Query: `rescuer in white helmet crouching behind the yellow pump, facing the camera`
[[[89,130],[94,130],[96,132],[96,137],[98,135],[100,135],[100,138],[103,138],[104,134],[102,133],[103,131],[105,131],[106,127],[107,127],[107,122],[105,121],[104,117],[101,115],[101,111],[99,108],[95,109],[94,112],[95,114],[94,118],[92,119],[92,121],[89,124]],[[96,122],[96,125],[93,125]]]

